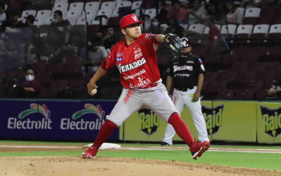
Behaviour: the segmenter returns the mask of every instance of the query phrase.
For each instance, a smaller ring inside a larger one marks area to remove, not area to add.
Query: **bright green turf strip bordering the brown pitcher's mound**
[[[1,152],[0,157],[11,156],[81,156],[80,151],[65,152]],[[135,151],[103,151],[98,152],[97,157],[121,157],[142,158],[157,160],[174,160],[194,163],[208,163],[224,166],[235,166],[244,168],[258,168],[268,170],[281,170],[281,154],[279,153],[246,153],[246,152],[205,152],[197,160],[192,159],[186,150],[135,150]]]

